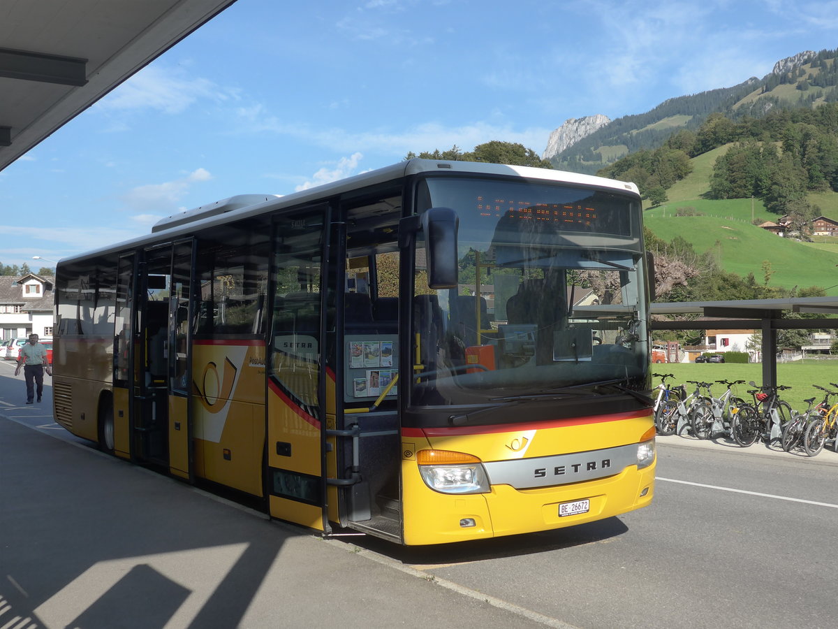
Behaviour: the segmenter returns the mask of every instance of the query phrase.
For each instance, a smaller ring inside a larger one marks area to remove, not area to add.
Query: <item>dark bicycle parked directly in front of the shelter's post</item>
[[[753,381],[748,382],[757,387]],[[779,444],[782,438],[782,427],[789,423],[792,410],[789,403],[779,398],[780,391],[787,391],[791,387],[779,384],[775,387],[758,387],[748,390],[753,396],[753,406],[745,404],[733,417],[731,436],[742,448],[753,445],[757,439],[767,441],[768,446]]]

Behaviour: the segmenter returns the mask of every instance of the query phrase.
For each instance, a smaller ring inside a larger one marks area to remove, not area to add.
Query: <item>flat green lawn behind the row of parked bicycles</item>
[[[746,384],[736,387],[737,395],[740,398],[750,399],[747,389],[751,388],[747,382],[763,382],[763,366],[759,363],[741,365],[736,363],[667,363],[653,365],[654,373],[675,374],[675,383],[685,383],[687,380],[701,380],[703,382],[715,382],[716,380],[744,380]],[[671,382],[671,381],[670,381]],[[798,411],[806,409],[804,399],[819,397],[823,394],[820,390],[812,387],[812,384],[820,384],[821,387],[830,388],[830,382],[838,382],[838,360],[806,359],[805,361],[781,363],[777,366],[777,382],[791,387],[789,391],[782,392],[781,399],[791,404],[791,408]],[[655,386],[660,384],[660,378],[653,378]],[[692,392],[691,385],[686,385],[687,392]],[[834,388],[834,387],[831,387]],[[718,396],[725,392],[725,386],[717,384],[712,389],[713,394]]]

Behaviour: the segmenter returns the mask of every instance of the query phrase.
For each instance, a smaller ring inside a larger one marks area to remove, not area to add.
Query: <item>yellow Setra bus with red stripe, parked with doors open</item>
[[[403,544],[654,493],[635,185],[411,159],[57,269],[54,414],[102,450]]]

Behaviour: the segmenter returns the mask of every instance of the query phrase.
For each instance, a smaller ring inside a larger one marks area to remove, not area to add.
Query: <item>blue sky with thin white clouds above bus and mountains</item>
[[[34,255],[410,151],[542,153],[567,118],[647,112],[835,48],[835,0],[238,0],[0,171],[0,262],[37,270]]]

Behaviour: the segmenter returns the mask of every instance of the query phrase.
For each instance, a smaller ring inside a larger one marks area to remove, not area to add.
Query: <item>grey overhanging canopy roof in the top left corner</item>
[[[0,3],[0,170],[234,2]]]

